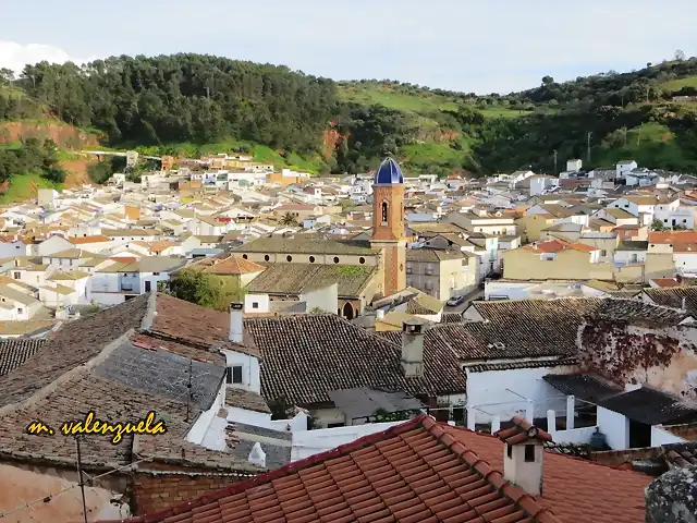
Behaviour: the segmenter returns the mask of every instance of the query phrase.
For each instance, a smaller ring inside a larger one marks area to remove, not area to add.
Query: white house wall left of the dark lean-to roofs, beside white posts
[[[524,415],[528,399],[533,400],[535,416],[543,417],[548,410],[565,409],[566,400],[542,377],[553,372],[570,370],[570,367],[517,368],[484,373],[467,370],[467,405],[489,413],[475,413],[477,423],[489,423],[492,415],[500,416],[501,419],[510,419],[517,414]]]

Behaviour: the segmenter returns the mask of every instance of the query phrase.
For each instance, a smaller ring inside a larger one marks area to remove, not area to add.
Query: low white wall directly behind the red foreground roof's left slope
[[[353,427],[321,428],[293,433],[291,461],[302,460],[327,450],[355,441],[370,434],[387,430],[404,422],[368,423]]]

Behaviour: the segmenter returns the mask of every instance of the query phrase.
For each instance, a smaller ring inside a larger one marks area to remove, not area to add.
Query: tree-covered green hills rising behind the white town
[[[20,78],[0,71],[0,120],[58,118],[101,131],[105,145],[175,155],[266,147],[273,161],[316,172],[366,171],[386,155],[441,175],[553,172],[575,157],[587,167],[633,157],[697,172],[697,101],[680,96],[697,96],[697,59],[680,53],[639,71],[564,83],[545,76],[536,88],[487,96],[386,80],[335,83],[199,54],[41,62]],[[338,139],[327,139],[330,131]]]

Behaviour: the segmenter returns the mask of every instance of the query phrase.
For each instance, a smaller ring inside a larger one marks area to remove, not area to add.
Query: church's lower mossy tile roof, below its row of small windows
[[[377,271],[377,267],[362,265],[270,264],[246,290],[261,294],[302,294],[337,283],[339,296],[357,297]]]

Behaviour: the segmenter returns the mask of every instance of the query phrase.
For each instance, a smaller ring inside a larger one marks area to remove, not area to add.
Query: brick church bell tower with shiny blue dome
[[[406,288],[404,177],[392,158],[387,158],[375,172],[370,244],[384,253],[384,295],[389,296]]]

